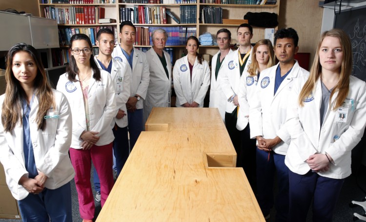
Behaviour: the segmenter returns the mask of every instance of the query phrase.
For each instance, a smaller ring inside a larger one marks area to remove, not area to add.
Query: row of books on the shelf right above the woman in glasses
[[[68,46],[70,44],[70,39],[75,34],[85,34],[87,35],[92,45],[96,45],[96,37],[97,33],[101,28],[107,28],[113,31],[115,42],[118,42],[118,33],[117,33],[117,27],[114,26],[97,26],[97,27],[91,27],[91,28],[59,28],[59,41],[60,46]]]

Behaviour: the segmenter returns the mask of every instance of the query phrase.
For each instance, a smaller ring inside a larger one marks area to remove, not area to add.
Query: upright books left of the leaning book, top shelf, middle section
[[[135,24],[166,24],[165,7],[144,7],[142,5],[133,8],[120,8],[122,21],[131,21]]]

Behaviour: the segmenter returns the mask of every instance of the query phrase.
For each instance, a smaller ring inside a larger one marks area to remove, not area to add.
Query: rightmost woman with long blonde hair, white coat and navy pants
[[[291,142],[289,221],[331,222],[341,187],[351,174],[351,150],[366,125],[366,84],[351,76],[352,51],[340,29],[323,33],[309,78],[300,77],[289,97],[286,127]],[[340,121],[339,115],[345,118]]]

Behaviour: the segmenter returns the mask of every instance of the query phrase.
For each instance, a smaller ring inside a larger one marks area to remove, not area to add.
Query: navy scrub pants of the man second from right
[[[257,200],[264,216],[273,207],[274,175],[277,173],[276,222],[287,222],[288,217],[288,168],[285,155],[257,148]]]

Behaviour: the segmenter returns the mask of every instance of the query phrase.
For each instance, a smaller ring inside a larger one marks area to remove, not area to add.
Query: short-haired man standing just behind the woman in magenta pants
[[[113,153],[116,157],[118,177],[129,155],[126,102],[130,96],[130,76],[127,73],[126,64],[112,58],[114,35],[110,29],[98,31],[96,44],[99,47],[99,55],[94,56],[94,60],[100,69],[111,74],[113,87],[116,92],[118,110],[111,123],[111,128],[115,138],[113,141]],[[94,170],[94,188],[97,191],[95,199],[100,201],[101,190],[96,170]]]

